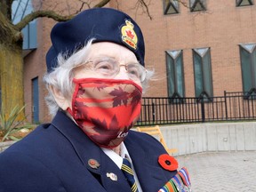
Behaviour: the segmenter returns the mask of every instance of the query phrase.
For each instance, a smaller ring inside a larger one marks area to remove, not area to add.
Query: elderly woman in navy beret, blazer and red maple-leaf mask
[[[51,37],[44,82],[54,118],[0,155],[0,191],[190,190],[186,168],[177,172],[156,139],[130,130],[152,74],[135,21],[92,9]]]

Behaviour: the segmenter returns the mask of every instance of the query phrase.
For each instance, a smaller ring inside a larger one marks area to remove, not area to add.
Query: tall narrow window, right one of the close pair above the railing
[[[211,101],[212,64],[210,48],[193,49],[196,98]]]

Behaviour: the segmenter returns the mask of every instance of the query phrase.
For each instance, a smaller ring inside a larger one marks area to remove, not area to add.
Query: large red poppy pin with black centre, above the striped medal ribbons
[[[175,171],[178,169],[178,162],[173,156],[162,154],[158,157],[158,163],[168,171]]]

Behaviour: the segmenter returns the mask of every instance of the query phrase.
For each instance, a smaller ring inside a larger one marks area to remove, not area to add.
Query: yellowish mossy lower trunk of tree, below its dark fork
[[[0,88],[1,108],[4,109],[5,116],[8,116],[15,106],[24,106],[23,58],[20,44],[12,48],[0,44]],[[17,120],[24,118],[23,110]]]

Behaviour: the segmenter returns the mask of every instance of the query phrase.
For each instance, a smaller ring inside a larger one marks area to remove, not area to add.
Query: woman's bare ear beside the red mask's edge
[[[62,109],[62,110],[67,110],[68,108],[71,108],[71,100],[65,98],[62,94],[62,92],[60,92],[59,89],[56,89],[55,87],[51,86],[50,87],[54,100],[57,102],[58,106]]]

